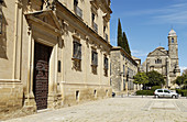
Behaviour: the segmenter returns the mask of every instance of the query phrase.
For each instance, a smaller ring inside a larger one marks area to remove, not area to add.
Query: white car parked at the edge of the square
[[[178,98],[178,93],[176,92],[173,92],[170,90],[167,90],[167,89],[156,89],[154,91],[154,96],[155,98],[161,98],[161,97],[164,97],[164,98]]]

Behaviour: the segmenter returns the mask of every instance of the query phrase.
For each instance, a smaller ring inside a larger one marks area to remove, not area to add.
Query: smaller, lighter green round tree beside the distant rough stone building
[[[148,77],[146,76],[145,73],[138,73],[135,76],[134,76],[134,84],[147,84],[148,82]]]

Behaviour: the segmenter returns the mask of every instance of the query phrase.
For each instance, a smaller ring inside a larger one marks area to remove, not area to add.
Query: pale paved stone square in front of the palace
[[[7,122],[187,122],[187,99],[110,98]]]

